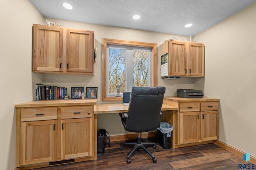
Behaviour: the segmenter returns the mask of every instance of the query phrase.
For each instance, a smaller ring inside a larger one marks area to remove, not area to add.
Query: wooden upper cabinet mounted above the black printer
[[[204,44],[167,40],[161,46],[161,56],[168,54],[168,75],[204,76]]]

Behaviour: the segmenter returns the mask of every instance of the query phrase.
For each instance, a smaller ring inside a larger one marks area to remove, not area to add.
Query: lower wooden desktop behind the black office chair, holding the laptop
[[[178,110],[178,109],[179,109],[178,107],[163,104],[161,111]],[[122,104],[122,103],[96,104],[96,105],[94,105],[94,114],[122,113],[122,112],[127,112],[127,111],[128,111],[128,106],[124,106],[124,104]]]

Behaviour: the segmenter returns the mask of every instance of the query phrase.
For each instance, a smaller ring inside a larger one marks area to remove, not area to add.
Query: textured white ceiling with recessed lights
[[[47,18],[196,35],[256,0],[30,0]],[[72,4],[67,10],[63,2]],[[140,20],[133,20],[138,14]],[[193,23],[192,27],[184,25]],[[65,25],[64,25],[65,26]]]

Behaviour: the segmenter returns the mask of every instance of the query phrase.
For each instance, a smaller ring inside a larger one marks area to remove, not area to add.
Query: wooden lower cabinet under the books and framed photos
[[[95,160],[94,105],[17,108],[16,167]]]

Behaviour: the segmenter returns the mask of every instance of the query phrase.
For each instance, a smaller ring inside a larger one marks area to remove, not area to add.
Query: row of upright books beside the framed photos
[[[64,99],[64,96],[66,95],[67,95],[66,87],[36,84],[36,100]]]

